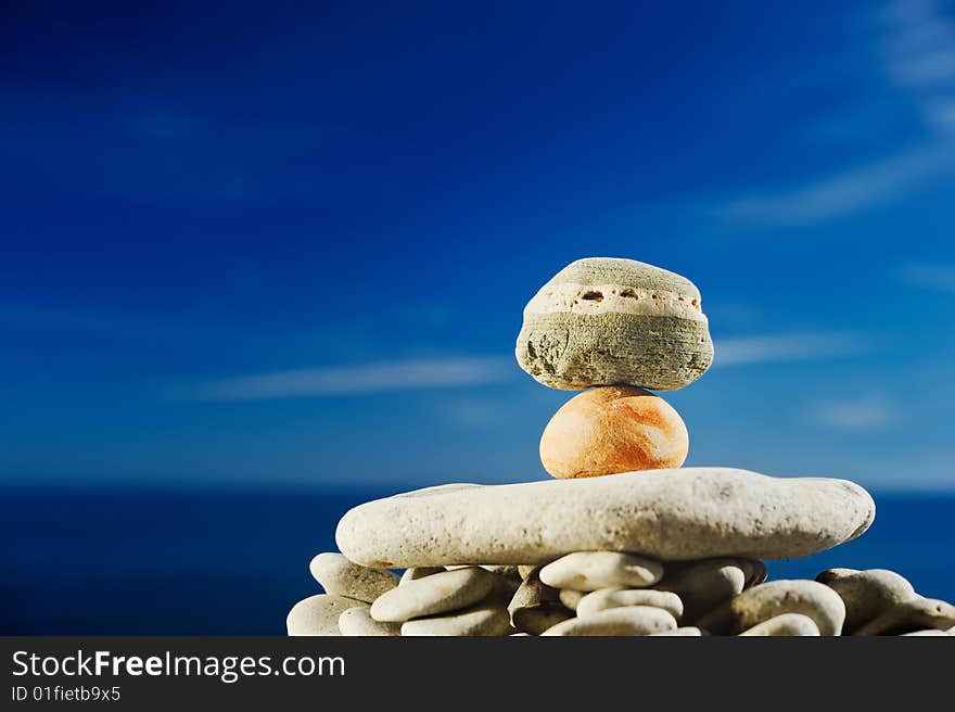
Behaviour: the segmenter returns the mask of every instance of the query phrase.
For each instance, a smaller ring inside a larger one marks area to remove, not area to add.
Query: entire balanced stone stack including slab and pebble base
[[[875,505],[845,480],[682,467],[686,425],[650,391],[688,385],[713,360],[687,279],[577,260],[527,304],[517,357],[545,385],[585,389],[542,436],[555,479],[352,509],[342,552],[310,565],[326,593],[295,605],[290,635],[955,634],[955,607],[891,571],[766,582],[762,560],[853,539]]]

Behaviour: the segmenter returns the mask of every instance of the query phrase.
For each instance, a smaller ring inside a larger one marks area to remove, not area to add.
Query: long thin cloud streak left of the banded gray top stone
[[[168,395],[196,400],[265,400],[461,387],[506,380],[515,368],[507,358],[408,359],[218,379],[175,389]]]

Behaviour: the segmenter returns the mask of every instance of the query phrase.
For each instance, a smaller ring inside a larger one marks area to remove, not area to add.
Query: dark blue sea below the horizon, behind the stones
[[[118,488],[0,491],[0,634],[284,634],[319,593],[308,574],[351,507],[389,491]],[[875,494],[860,539],[769,576],[893,569],[955,601],[955,496]]]

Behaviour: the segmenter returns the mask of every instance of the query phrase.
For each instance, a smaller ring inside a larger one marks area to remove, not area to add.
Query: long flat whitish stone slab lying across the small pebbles
[[[855,538],[875,518],[871,497],[852,482],[730,468],[425,493],[346,512],[335,532],[339,548],[377,568],[548,563],[584,550],[671,561],[785,559]]]

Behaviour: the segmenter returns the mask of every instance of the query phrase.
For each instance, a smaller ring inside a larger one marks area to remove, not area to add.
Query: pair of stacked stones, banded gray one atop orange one
[[[540,459],[553,476],[678,468],[686,460],[683,419],[649,390],[689,385],[713,361],[700,291],[688,279],[633,259],[578,259],[524,307],[515,354],[544,385],[588,389],[544,430]]]

